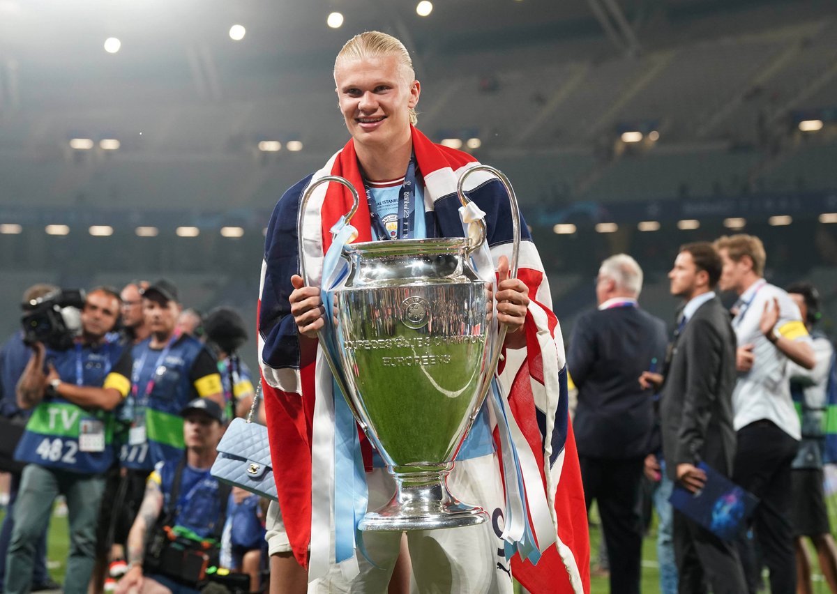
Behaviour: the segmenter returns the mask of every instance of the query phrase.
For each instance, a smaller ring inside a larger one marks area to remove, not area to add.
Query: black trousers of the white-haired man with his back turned
[[[643,460],[578,457],[587,509],[595,499],[602,518],[612,594],[639,594],[642,521],[638,501]]]

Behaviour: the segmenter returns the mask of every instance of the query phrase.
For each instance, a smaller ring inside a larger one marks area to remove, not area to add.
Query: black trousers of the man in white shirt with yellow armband
[[[770,571],[772,594],[796,591],[796,560],[790,523],[791,469],[798,441],[770,421],[752,422],[737,433],[738,447],[732,480],[750,491],[759,504],[752,515],[752,529]],[[747,591],[755,594],[761,580],[761,564],[752,543],[742,535],[737,541],[747,578]]]

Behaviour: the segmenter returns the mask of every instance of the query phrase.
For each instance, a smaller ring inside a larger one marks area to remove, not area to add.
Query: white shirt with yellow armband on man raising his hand
[[[738,373],[732,407],[736,430],[751,422],[768,419],[792,438],[802,437],[799,417],[790,396],[788,357],[773,345],[759,329],[759,321],[766,303],[778,300],[779,320],[776,328],[792,341],[808,341],[811,337],[790,296],[773,284],[761,279],[741,295],[742,304],[732,320],[738,346],[752,344],[755,360],[747,373]]]

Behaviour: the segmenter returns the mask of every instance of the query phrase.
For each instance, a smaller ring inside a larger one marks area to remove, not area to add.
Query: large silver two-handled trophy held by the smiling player
[[[520,218],[506,176],[490,166],[472,166],[460,177],[457,193],[466,206],[470,200],[463,183],[480,170],[498,177],[511,201],[514,277]],[[357,211],[357,191],[343,177],[322,177],[308,187],[297,221],[306,284],[302,222],[311,193],[326,182],[352,192],[347,221]],[[471,263],[471,254],[485,243],[485,222],[477,224],[478,238],[372,241],[343,248],[349,270],[333,290],[336,320],[321,330],[320,344],[355,419],[396,483],[393,499],[368,512],[361,530],[453,528],[488,517],[480,507],[460,503],[446,485],[506,337],[506,327],[496,322],[493,279],[480,279]],[[493,275],[493,265],[490,269]]]

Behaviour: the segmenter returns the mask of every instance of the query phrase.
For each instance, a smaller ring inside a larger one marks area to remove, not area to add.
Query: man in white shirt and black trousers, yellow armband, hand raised
[[[732,308],[737,335],[738,381],[732,393],[737,432],[733,481],[759,499],[753,529],[770,571],[773,594],[796,591],[791,502],[791,462],[801,436],[788,387],[788,361],[814,367],[811,338],[788,294],[763,279],[767,256],[761,239],[719,238],[723,261],[719,287],[739,299]],[[756,591],[758,567],[747,540],[739,541],[747,587]]]

